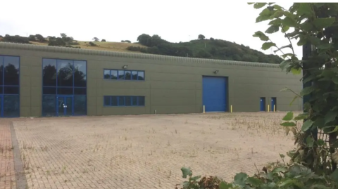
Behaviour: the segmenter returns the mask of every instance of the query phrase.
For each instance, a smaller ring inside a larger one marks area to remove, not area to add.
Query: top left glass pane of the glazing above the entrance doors
[[[43,86],[56,86],[56,60],[42,59]]]

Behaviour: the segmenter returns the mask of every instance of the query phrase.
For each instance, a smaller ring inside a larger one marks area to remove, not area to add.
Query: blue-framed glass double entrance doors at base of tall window
[[[73,96],[58,96],[56,112],[58,116],[72,116],[73,115]]]

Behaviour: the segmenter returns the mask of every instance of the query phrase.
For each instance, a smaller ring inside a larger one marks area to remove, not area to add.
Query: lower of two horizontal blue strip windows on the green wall
[[[104,96],[104,106],[144,106],[144,96]]]

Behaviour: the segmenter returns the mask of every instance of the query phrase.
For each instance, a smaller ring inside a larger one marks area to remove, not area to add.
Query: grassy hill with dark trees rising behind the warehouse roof
[[[133,53],[150,53],[166,56],[182,56],[192,58],[209,58],[218,60],[237,60],[256,63],[281,63],[282,58],[275,55],[265,55],[249,46],[239,45],[222,39],[200,39],[171,43],[161,39],[158,35],[152,37],[142,34],[137,38],[139,43],[108,42],[108,41],[76,41],[73,37],[61,34],[61,37],[42,37],[40,34],[30,37],[0,36],[0,41],[22,44],[36,44],[43,46],[65,46],[69,48],[84,48],[99,51],[120,51]],[[96,39],[97,40],[97,39]]]

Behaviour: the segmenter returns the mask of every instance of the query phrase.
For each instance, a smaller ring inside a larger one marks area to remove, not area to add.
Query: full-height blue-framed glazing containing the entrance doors
[[[87,62],[43,58],[42,116],[69,115],[87,115]]]

